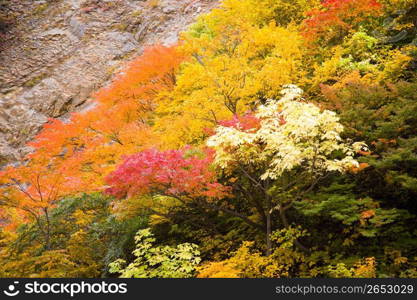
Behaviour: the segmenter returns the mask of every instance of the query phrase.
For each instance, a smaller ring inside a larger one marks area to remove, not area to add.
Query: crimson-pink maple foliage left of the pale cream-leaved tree
[[[203,156],[203,157],[201,157]],[[160,193],[172,197],[221,198],[227,188],[210,170],[213,151],[155,149],[131,155],[107,177],[106,192],[118,198]]]

